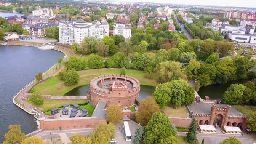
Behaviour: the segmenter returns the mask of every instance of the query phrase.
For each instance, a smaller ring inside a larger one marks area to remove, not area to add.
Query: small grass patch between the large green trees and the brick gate
[[[163,111],[168,115],[168,117],[187,118],[189,116],[186,106],[179,107],[177,109],[173,108],[172,106],[166,106]]]

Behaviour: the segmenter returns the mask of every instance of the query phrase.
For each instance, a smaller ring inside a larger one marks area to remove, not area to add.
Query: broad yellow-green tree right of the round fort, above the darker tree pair
[[[176,61],[165,61],[157,64],[155,72],[159,74],[160,82],[166,82],[170,80],[186,79],[185,69],[182,65]]]

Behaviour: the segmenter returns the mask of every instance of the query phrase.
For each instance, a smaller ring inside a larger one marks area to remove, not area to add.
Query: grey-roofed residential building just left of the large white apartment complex
[[[45,28],[58,26],[56,23],[39,23],[29,27],[29,35],[31,37],[46,37]]]

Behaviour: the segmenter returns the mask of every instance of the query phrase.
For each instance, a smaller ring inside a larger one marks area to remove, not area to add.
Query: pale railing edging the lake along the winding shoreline
[[[0,44],[3,44],[3,45],[13,45],[13,44],[6,44],[6,43],[0,43]],[[23,44],[21,44],[23,45]],[[32,46],[32,45],[24,45],[24,46]],[[35,46],[37,47],[37,46]],[[64,53],[64,51],[60,50],[59,48],[53,48],[54,50],[56,51],[60,51],[62,53]],[[65,59],[67,57],[66,53],[64,53],[65,56],[63,59]],[[57,63],[58,64],[58,63]],[[56,67],[57,64],[54,64],[53,66],[51,66],[49,69],[47,69],[45,72],[43,72],[43,75],[45,73],[47,73],[49,70],[51,70],[53,67]],[[32,110],[29,110],[27,109],[26,107],[24,107],[24,105],[21,105],[19,104],[18,102],[15,101],[15,98],[17,96],[19,96],[19,94],[24,91],[27,87],[29,87],[30,85],[34,86],[36,85],[37,83],[34,83],[36,81],[36,79],[32,80],[32,82],[30,82],[29,84],[25,85],[23,88],[21,88],[14,96],[13,96],[13,103],[18,106],[19,108],[23,109],[25,112],[29,113],[30,115],[34,115],[34,118],[37,119],[37,120],[43,120],[44,117],[40,118],[40,113],[37,112],[36,110],[32,109]],[[34,83],[34,84],[33,84]]]

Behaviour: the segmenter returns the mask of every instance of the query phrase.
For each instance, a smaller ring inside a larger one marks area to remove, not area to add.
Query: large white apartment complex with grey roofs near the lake
[[[83,19],[77,21],[59,21],[59,42],[72,44],[81,43],[85,37],[95,37],[102,39],[109,35],[109,24],[107,21],[96,24],[88,23]]]

